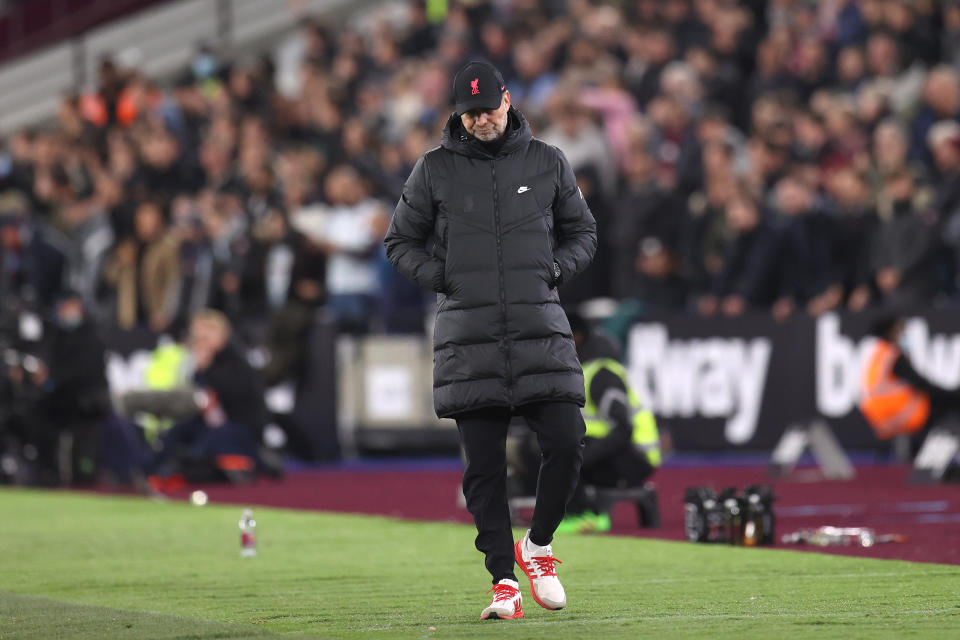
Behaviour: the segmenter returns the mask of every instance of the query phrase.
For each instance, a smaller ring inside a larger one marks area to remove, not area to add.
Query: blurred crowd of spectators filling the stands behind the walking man
[[[66,298],[100,333],[203,309],[296,374],[324,314],[421,332],[381,240],[485,58],[597,218],[565,302],[783,319],[955,303],[960,2],[487,0],[304,19],[264,55],[199,45],[170,81],[95,90],[0,153],[0,333]],[[0,336],[2,337],[2,336]]]

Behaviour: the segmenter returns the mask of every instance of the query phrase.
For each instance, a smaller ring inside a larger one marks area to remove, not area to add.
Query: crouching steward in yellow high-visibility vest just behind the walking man
[[[609,531],[610,515],[597,513],[586,485],[596,488],[643,486],[660,466],[660,437],[653,413],[643,407],[642,399],[630,388],[627,372],[615,359],[613,346],[594,333],[582,317],[568,314],[567,318],[583,366],[587,397],[583,418],[587,430],[580,483],[557,531]],[[535,435],[532,432],[529,435],[521,450],[522,473],[532,474],[535,483],[540,452]],[[522,486],[530,486],[526,478],[520,481]]]

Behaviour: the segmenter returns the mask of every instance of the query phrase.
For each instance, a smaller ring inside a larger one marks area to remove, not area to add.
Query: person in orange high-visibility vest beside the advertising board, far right
[[[882,440],[917,436],[960,410],[960,393],[926,379],[905,357],[903,329],[896,315],[874,323],[877,342],[860,378],[860,411]]]

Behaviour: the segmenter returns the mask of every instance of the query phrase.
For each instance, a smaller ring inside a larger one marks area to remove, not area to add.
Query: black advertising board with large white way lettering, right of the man
[[[678,450],[770,450],[796,423],[823,420],[848,449],[879,442],[857,410],[877,315],[656,316],[629,334],[630,380]],[[960,311],[907,321],[907,355],[925,376],[960,386]]]

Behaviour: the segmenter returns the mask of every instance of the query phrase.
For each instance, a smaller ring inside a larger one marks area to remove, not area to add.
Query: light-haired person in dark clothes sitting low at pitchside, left
[[[150,472],[169,476],[179,466],[194,479],[225,474],[248,480],[259,464],[257,450],[267,421],[260,374],[230,342],[230,323],[219,311],[193,317],[190,351],[199,413],[163,435]],[[162,480],[154,484],[172,488]]]

